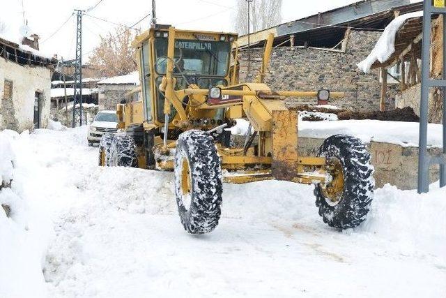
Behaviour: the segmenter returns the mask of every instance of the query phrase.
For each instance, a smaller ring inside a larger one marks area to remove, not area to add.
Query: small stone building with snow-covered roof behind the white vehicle
[[[116,104],[125,100],[126,94],[139,86],[139,73],[134,71],[128,75],[110,77],[98,82],[98,104],[99,110],[116,110]],[[130,101],[137,101],[139,92],[130,98]]]

